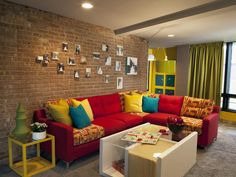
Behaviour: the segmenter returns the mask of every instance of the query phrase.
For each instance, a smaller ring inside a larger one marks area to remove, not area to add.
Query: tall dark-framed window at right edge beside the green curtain
[[[225,47],[222,110],[236,112],[236,42]]]

